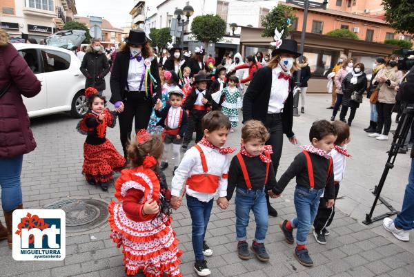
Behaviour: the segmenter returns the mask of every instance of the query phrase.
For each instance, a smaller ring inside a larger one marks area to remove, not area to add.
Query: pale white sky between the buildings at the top
[[[129,12],[133,5],[133,0],[76,0],[77,15],[103,17],[116,28],[130,21]]]

